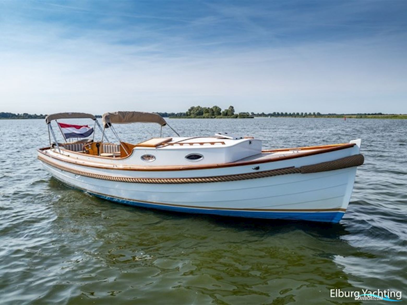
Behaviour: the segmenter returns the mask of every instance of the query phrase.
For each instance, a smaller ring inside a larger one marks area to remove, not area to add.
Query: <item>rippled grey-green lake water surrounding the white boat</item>
[[[407,293],[407,120],[169,123],[181,135],[254,135],[265,148],[361,138],[365,164],[339,224],[174,214],[61,185],[36,159],[44,120],[0,120],[0,303],[360,304],[330,289]],[[116,130],[133,142],[159,127]]]

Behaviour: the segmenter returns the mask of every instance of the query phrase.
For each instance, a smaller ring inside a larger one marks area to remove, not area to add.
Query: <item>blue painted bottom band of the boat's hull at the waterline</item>
[[[57,179],[56,177],[54,177]],[[267,211],[239,211],[239,210],[221,210],[221,209],[197,209],[189,207],[175,207],[171,205],[160,205],[159,203],[142,203],[133,200],[126,200],[123,198],[115,198],[106,196],[103,194],[92,193],[87,190],[75,187],[57,179],[64,185],[68,185],[76,190],[80,190],[92,196],[109,200],[112,202],[131,205],[135,207],[144,207],[148,209],[159,209],[164,211],[173,211],[189,214],[208,214],[208,215],[219,215],[219,216],[231,216],[231,217],[244,217],[244,218],[261,218],[261,219],[282,219],[282,220],[307,220],[307,221],[318,221],[318,222],[331,222],[338,223],[344,216],[345,212],[267,212]]]

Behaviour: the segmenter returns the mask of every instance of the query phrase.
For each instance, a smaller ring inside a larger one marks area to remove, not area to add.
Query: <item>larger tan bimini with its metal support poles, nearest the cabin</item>
[[[120,142],[120,145],[123,147],[124,151],[127,152],[126,148],[121,144],[121,140],[113,127],[112,123],[115,124],[129,124],[129,123],[158,123],[161,126],[160,129],[160,137],[162,137],[162,126],[167,125],[173,132],[179,134],[175,131],[168,123],[162,118],[161,115],[157,113],[150,113],[150,112],[140,112],[140,111],[116,111],[116,112],[106,112],[102,115],[102,122],[103,122],[103,134],[102,134],[102,142],[103,137],[105,136],[105,129],[111,127],[112,132],[115,135],[116,139]]]

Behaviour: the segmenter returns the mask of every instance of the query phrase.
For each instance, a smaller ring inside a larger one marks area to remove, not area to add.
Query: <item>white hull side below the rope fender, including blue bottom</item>
[[[57,180],[116,203],[192,214],[333,223],[346,211],[356,174],[356,167],[351,167],[215,183],[132,183],[75,174],[60,169],[61,164],[72,165],[57,162],[59,168],[42,160]]]

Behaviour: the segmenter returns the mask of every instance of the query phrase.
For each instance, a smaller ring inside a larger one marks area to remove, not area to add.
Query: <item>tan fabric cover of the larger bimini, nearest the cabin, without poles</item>
[[[116,111],[106,112],[102,116],[103,126],[109,128],[112,123],[127,124],[127,123],[158,123],[161,126],[167,124],[161,115],[157,113],[139,112],[139,111]]]

